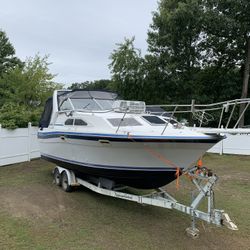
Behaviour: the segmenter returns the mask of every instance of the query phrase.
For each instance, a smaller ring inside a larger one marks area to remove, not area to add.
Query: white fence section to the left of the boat
[[[40,157],[37,127],[8,130],[0,125],[0,166]]]

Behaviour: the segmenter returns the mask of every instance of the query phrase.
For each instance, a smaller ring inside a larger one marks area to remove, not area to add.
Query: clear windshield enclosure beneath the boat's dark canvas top
[[[70,91],[58,96],[60,110],[111,110],[117,94],[104,91]]]

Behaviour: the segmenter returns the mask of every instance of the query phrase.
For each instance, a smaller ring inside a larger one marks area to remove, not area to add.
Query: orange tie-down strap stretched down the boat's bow
[[[133,142],[136,142],[135,140],[133,140],[132,135],[130,133],[128,133],[128,138],[131,139]],[[176,164],[174,164],[172,161],[168,160],[162,154],[160,154],[157,151],[155,151],[154,149],[150,148],[149,146],[144,145],[143,148],[144,148],[144,150],[146,152],[148,152],[149,154],[151,154],[153,157],[159,159],[160,161],[162,161],[166,165],[172,166],[172,167],[176,168],[176,172],[175,172],[175,176],[176,176],[176,189],[178,190],[180,188],[180,175],[181,175],[181,169],[180,169],[180,167],[177,166]]]

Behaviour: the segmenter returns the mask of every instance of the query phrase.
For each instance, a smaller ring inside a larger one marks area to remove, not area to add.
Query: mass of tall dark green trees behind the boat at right
[[[132,38],[111,55],[119,93],[150,104],[240,98],[250,27],[246,2],[161,0],[148,32],[148,54],[142,57]]]

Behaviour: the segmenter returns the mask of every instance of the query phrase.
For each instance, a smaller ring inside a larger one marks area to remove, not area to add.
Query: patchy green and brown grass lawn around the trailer
[[[65,193],[43,160],[0,167],[0,249],[250,249],[250,157],[206,155],[219,176],[216,208],[239,231],[198,222],[199,239],[186,236],[190,218],[178,211],[105,197],[80,188]],[[183,176],[166,189],[188,201]]]

